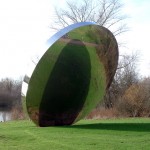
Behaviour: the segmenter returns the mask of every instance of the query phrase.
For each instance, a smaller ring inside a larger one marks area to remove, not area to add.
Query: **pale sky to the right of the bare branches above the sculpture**
[[[126,47],[120,48],[120,53],[137,52],[139,74],[148,77],[150,76],[150,1],[123,0],[123,3],[123,11],[129,16],[126,20],[129,31],[120,37]]]

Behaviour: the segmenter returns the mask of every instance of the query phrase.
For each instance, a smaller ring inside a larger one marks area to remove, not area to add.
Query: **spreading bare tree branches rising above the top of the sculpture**
[[[69,0],[66,8],[55,8],[53,29],[60,29],[77,22],[91,21],[109,28],[114,35],[127,31],[122,15],[123,4],[119,0]]]

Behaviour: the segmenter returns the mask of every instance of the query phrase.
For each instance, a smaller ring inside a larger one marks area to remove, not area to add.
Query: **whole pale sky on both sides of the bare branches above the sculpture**
[[[65,0],[0,0],[0,79],[23,77],[47,39],[54,32],[54,6]],[[150,1],[122,0],[130,31],[117,37],[125,47],[120,54],[140,54],[139,73],[150,76]]]

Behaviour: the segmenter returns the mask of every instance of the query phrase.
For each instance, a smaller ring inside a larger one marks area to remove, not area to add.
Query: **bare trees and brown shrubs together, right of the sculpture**
[[[97,117],[150,117],[150,77],[140,77],[138,55],[124,55],[102,102],[89,114]]]

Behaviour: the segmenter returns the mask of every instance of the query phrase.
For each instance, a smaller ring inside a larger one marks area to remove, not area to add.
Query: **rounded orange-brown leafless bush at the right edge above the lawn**
[[[144,79],[132,84],[120,98],[117,109],[121,115],[128,117],[150,116],[150,80]]]

